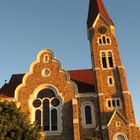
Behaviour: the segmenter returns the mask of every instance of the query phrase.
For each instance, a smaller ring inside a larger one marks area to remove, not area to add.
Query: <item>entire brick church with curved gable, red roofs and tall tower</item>
[[[15,101],[41,140],[140,140],[115,26],[102,0],[90,0],[87,32],[91,69],[64,70],[51,50],[14,74],[0,98]]]

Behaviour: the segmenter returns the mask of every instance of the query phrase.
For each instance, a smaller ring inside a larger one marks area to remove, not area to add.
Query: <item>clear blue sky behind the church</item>
[[[140,1],[103,0],[115,24],[140,124]],[[0,0],[0,85],[25,73],[49,48],[65,70],[91,68],[86,19],[89,0]]]

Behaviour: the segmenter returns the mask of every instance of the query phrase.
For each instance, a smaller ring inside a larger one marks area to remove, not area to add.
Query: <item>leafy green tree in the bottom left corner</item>
[[[0,101],[0,140],[39,140],[39,131],[16,103]]]

